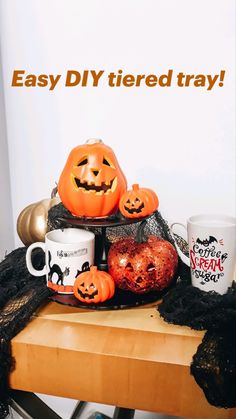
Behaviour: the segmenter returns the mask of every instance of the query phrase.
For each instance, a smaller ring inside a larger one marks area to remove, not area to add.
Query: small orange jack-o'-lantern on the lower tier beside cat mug
[[[91,266],[90,271],[80,274],[74,283],[74,295],[83,303],[101,303],[113,297],[115,283],[107,272]]]

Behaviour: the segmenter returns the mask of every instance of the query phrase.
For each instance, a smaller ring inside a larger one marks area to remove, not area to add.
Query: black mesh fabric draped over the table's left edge
[[[14,365],[10,341],[51,294],[45,277],[33,277],[25,264],[26,248],[11,252],[0,263],[0,418],[8,413],[8,374]],[[43,267],[43,254],[34,250],[33,264]]]

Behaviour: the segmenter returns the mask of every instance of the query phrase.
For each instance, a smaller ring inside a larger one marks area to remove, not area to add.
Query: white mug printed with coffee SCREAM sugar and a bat
[[[173,223],[174,226],[181,223]],[[236,280],[236,218],[201,214],[187,220],[189,258],[177,246],[182,261],[191,268],[194,287],[225,294]]]

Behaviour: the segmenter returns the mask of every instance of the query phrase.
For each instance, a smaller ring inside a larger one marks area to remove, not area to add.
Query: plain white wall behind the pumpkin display
[[[49,195],[72,147],[99,137],[169,220],[235,213],[234,0],[1,0],[14,222]],[[12,88],[14,69],[218,74],[224,87]]]

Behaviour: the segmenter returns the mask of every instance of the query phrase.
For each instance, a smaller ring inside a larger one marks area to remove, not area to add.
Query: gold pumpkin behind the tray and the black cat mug
[[[26,246],[37,241],[44,241],[48,211],[61,202],[56,194],[57,187],[52,190],[51,198],[28,205],[18,216],[17,233]]]

